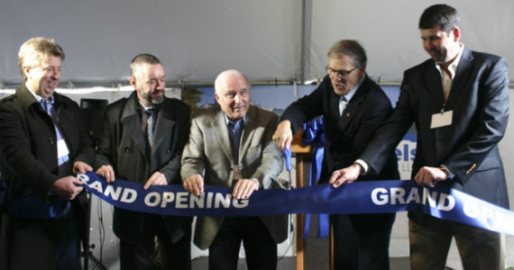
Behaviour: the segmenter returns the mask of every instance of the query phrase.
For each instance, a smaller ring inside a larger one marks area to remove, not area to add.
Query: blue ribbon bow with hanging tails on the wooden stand
[[[321,166],[323,165],[323,157],[325,155],[325,125],[323,122],[323,116],[317,117],[312,121],[307,121],[303,124],[303,133],[301,141],[304,145],[313,144],[312,161],[310,164],[310,176],[308,181],[308,185],[310,186],[317,184],[317,182],[319,181],[319,175],[321,175]],[[330,228],[328,214],[318,214],[317,224],[317,238],[328,237],[328,231]],[[309,230],[310,214],[307,214],[303,238],[307,238]]]

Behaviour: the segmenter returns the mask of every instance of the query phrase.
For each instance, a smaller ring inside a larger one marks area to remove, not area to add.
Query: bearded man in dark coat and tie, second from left
[[[106,182],[181,184],[180,157],[188,142],[188,104],[164,96],[164,68],[158,58],[140,54],[131,62],[135,91],[106,108],[96,173]],[[113,229],[120,238],[122,269],[152,269],[157,237],[162,269],[190,269],[191,218],[115,208]]]

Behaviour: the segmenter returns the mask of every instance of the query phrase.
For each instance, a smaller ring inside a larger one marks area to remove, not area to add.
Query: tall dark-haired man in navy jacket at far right
[[[446,4],[432,5],[421,15],[423,48],[431,58],[405,72],[390,119],[363,152],[360,164],[336,171],[332,184],[380,170],[386,153],[414,122],[418,148],[412,177],[418,184],[443,184],[509,207],[498,150],[509,118],[507,62],[464,47],[459,21],[456,10]],[[444,269],[452,237],[464,269],[504,269],[499,233],[418,212],[408,217],[412,269]]]

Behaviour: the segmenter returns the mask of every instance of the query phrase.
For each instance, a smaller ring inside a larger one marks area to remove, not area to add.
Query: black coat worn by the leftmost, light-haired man
[[[53,97],[61,134],[69,149],[69,161],[73,164],[80,160],[91,165],[95,157],[95,149],[83,126],[77,103],[58,93],[54,93]],[[47,202],[55,199],[55,195],[49,195],[50,187],[60,178],[54,124],[25,85],[20,86],[15,94],[5,97],[0,102],[0,130],[2,130],[0,132],[0,170],[8,185],[6,204],[34,193]],[[70,171],[69,175],[71,174]],[[9,226],[9,223],[17,219],[9,217],[8,214],[5,214],[4,218],[3,222],[6,226],[2,226],[3,232],[16,229]],[[41,226],[49,229],[50,238],[55,238],[51,222],[26,221],[32,224],[41,223]],[[79,222],[84,224],[83,221]],[[41,248],[54,246],[41,239],[44,238],[34,236],[34,242],[26,245],[36,245]],[[3,244],[0,248],[2,251],[5,251],[5,240],[2,237]],[[4,255],[5,253],[2,252],[2,256]],[[10,255],[10,257],[14,256],[16,255]],[[0,262],[6,261],[5,257],[0,257]],[[0,268],[5,269],[2,266]]]

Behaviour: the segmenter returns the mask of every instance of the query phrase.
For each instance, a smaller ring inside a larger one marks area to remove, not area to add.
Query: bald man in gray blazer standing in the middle
[[[182,181],[200,195],[204,184],[234,187],[248,199],[278,187],[282,157],[271,139],[278,116],[250,104],[250,85],[236,70],[216,78],[215,108],[193,119],[182,154]],[[277,243],[287,238],[286,216],[198,217],[194,243],[209,248],[209,269],[236,269],[243,240],[249,269],[276,269]]]

